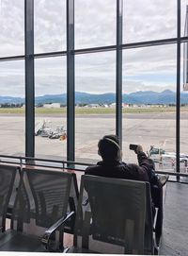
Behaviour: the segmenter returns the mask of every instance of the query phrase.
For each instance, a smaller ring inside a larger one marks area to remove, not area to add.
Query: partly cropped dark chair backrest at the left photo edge
[[[0,164],[0,225],[5,230],[8,202],[12,194],[18,166]]]

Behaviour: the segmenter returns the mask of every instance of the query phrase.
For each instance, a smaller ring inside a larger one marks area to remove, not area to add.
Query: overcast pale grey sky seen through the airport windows
[[[176,0],[123,4],[123,43],[176,37]],[[181,1],[181,36],[186,4]],[[0,56],[23,55],[24,0],[0,0],[0,26]],[[75,48],[115,43],[116,1],[75,0]],[[60,50],[66,50],[66,1],[35,0],[35,52]],[[35,70],[37,95],[66,92],[66,57],[36,60]],[[76,56],[75,73],[76,91],[115,93],[116,52]],[[176,89],[176,44],[123,51],[123,93],[165,89]],[[0,62],[0,90],[24,96],[23,60]]]

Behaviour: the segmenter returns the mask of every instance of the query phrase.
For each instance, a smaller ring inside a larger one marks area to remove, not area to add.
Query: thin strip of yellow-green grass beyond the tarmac
[[[123,113],[159,113],[159,112],[175,112],[175,107],[150,107],[150,108],[126,108]],[[188,107],[181,107],[180,111],[188,111]],[[24,108],[0,108],[0,114],[24,114]],[[45,109],[36,108],[36,114],[66,114],[67,108],[61,109]],[[76,114],[113,114],[116,110],[113,108],[75,108]]]

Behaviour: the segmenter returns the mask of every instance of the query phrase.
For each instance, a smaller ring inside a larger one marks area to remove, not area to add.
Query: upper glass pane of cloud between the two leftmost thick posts
[[[65,50],[66,1],[35,1],[34,32],[35,53]]]

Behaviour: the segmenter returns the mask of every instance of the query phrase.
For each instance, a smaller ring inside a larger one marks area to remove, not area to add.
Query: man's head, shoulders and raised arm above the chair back
[[[150,185],[162,187],[168,176],[158,177],[154,173],[154,162],[143,152],[142,145],[135,149],[139,165],[122,162],[122,151],[119,146],[118,136],[105,135],[98,143],[98,154],[102,162],[86,168],[86,175],[95,175],[108,178],[134,179],[149,181]],[[155,201],[155,200],[154,200]]]

